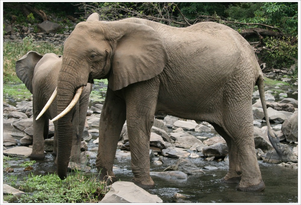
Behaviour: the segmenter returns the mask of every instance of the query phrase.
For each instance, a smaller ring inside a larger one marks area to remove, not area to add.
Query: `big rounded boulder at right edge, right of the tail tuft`
[[[284,120],[281,130],[288,142],[298,141],[298,113],[289,116]]]

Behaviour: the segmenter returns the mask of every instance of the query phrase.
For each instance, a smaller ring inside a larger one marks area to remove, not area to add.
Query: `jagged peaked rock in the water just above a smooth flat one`
[[[181,171],[187,175],[205,174],[205,172],[197,167],[190,159],[179,158],[176,164],[167,167],[165,171]]]

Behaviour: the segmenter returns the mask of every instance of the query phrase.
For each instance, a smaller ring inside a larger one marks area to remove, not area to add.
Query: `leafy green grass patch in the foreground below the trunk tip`
[[[61,180],[56,174],[45,176],[30,173],[28,179],[20,184],[23,194],[19,203],[97,203],[106,190],[106,182],[99,182],[91,175],[75,172]]]

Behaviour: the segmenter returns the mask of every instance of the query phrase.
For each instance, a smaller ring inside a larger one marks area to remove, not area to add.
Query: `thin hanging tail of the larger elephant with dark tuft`
[[[278,137],[275,136],[275,134],[272,132],[272,127],[271,127],[270,121],[268,119],[268,110],[266,108],[264,84],[263,84],[263,76],[262,75],[260,75],[260,77],[257,79],[256,85],[258,86],[260,101],[261,101],[263,113],[265,116],[266,124],[268,126],[268,139],[270,140],[272,146],[274,147],[275,151],[277,152],[277,154],[279,155],[279,157],[281,159],[282,158],[281,145],[280,145]]]

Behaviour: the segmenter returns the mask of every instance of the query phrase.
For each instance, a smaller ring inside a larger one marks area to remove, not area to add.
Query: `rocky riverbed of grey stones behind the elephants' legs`
[[[266,92],[266,95],[268,97],[269,92]],[[273,130],[280,138],[281,143],[289,145],[294,155],[298,157],[298,101],[285,98],[277,103],[268,103],[268,107],[269,120]],[[82,167],[83,171],[96,172],[95,159],[98,149],[98,124],[101,108],[102,104],[94,104],[87,108],[86,127],[81,144],[82,156],[84,157],[82,161],[85,161],[86,164],[79,166]],[[31,101],[22,101],[16,106],[3,103],[3,154],[14,157],[13,160],[9,161],[11,166],[5,167],[4,175],[20,173],[22,176],[24,174],[24,168],[20,169],[16,164],[26,161],[31,153],[32,116]],[[253,104],[253,116],[254,141],[258,160],[297,169],[297,163],[285,164],[277,158],[271,158],[273,148],[267,138],[267,127],[259,102]],[[53,138],[51,136],[53,136],[54,126],[52,123],[50,123],[49,129],[50,139],[45,139],[44,148],[48,159],[31,166],[32,170],[30,171],[36,174],[55,172],[55,167],[52,166],[54,157],[50,156],[53,150]],[[208,170],[226,170],[228,166],[228,147],[225,140],[206,122],[184,120],[169,115],[157,116],[151,130],[150,148],[150,161],[153,166],[151,175],[163,179],[185,181],[190,177],[205,175]],[[114,171],[130,174],[131,152],[126,124],[116,150]],[[124,161],[128,163],[125,167]],[[42,166],[43,170],[39,170],[41,164],[45,163],[48,164],[49,169]],[[219,163],[222,163],[222,166]]]

